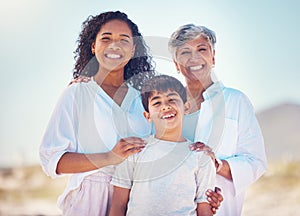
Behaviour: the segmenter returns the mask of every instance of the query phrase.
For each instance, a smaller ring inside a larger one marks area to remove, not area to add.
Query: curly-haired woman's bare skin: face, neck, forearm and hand
[[[99,62],[94,80],[118,104],[121,105],[128,87],[124,84],[124,66],[134,55],[135,46],[129,26],[120,20],[102,25],[91,46]],[[115,147],[105,153],[65,153],[59,160],[57,173],[80,173],[108,165],[121,163],[129,155],[140,152],[145,141],[137,137],[120,139]]]

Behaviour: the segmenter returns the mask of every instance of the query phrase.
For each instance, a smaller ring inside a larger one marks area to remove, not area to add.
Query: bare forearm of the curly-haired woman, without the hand
[[[108,165],[118,164],[118,162],[111,156],[110,152],[95,154],[67,152],[60,158],[56,173],[88,172]]]

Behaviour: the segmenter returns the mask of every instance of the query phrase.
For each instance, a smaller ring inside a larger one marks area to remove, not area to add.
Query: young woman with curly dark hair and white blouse
[[[145,146],[151,133],[139,89],[154,75],[143,37],[126,14],[105,12],[82,25],[74,78],[52,114],[40,146],[52,178],[72,174],[58,199],[63,215],[108,215],[114,166]]]

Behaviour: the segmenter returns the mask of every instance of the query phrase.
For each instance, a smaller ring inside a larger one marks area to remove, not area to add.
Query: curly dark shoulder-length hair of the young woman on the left
[[[121,20],[129,26],[132,31],[135,54],[124,68],[124,79],[136,89],[140,90],[142,84],[155,75],[154,62],[149,54],[142,34],[135,23],[125,13],[120,11],[109,11],[97,16],[89,16],[82,24],[82,31],[77,40],[78,46],[74,52],[75,67],[73,77],[79,75],[93,76],[97,73],[99,63],[91,51],[92,43],[103,24],[111,20]]]

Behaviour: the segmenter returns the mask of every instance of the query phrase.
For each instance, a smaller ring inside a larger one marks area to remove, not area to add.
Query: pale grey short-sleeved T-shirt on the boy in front
[[[150,136],[145,149],[116,168],[112,184],[131,189],[127,216],[196,215],[197,203],[215,186],[215,167],[190,142],[169,142]]]

